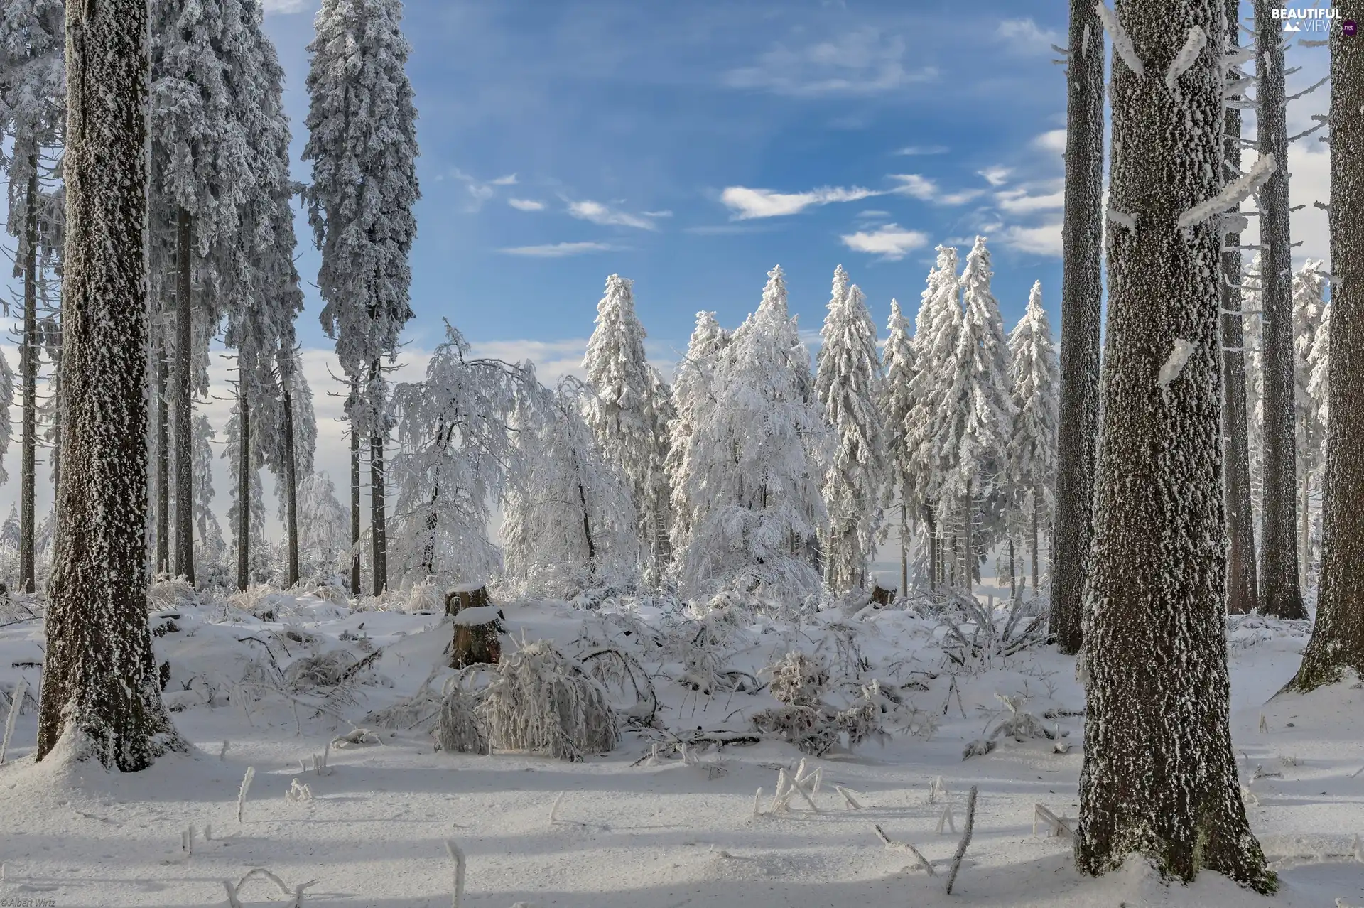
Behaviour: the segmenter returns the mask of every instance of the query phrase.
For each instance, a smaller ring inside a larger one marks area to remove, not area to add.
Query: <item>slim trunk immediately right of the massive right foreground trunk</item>
[[[1240,44],[1240,0],[1226,4],[1228,53]],[[1226,108],[1228,164],[1241,169],[1241,110]],[[1228,233],[1222,249],[1222,431],[1226,444],[1226,611],[1258,607],[1255,577],[1255,513],[1251,507],[1251,454],[1245,410],[1245,337],[1241,324],[1241,234]]]

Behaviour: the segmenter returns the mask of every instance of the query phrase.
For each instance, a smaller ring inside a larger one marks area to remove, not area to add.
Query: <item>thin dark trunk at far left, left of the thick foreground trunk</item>
[[[25,191],[23,225],[23,346],[19,372],[23,382],[23,439],[19,468],[19,590],[37,592],[34,584],[34,487],[38,447],[38,155],[29,158],[33,175]]]

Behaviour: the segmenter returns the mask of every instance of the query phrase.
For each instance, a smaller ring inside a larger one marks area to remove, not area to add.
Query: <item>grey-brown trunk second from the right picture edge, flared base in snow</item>
[[[1273,18],[1277,3],[1255,0],[1255,46],[1259,50],[1260,154],[1278,168],[1260,187],[1260,319],[1263,334],[1264,455],[1259,605],[1266,615],[1307,618],[1297,584],[1297,500],[1293,402],[1293,258],[1288,210],[1288,105],[1284,101],[1284,26]]]

